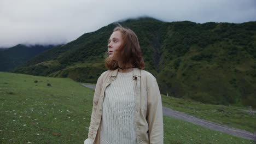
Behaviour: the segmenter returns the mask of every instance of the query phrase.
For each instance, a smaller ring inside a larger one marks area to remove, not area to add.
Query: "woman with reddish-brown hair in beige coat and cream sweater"
[[[155,77],[144,69],[136,34],[114,28],[105,71],[96,84],[84,143],[163,143],[162,103]]]

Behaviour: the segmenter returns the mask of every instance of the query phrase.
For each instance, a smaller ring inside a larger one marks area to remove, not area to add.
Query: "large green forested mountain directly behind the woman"
[[[256,107],[256,22],[162,22],[129,19],[120,24],[138,36],[146,70],[163,94],[202,103]],[[66,45],[40,53],[15,73],[96,82],[106,70],[113,23]]]

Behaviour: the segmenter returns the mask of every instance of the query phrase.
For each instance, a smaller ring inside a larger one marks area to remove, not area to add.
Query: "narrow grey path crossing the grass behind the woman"
[[[95,86],[91,85],[85,85],[82,84],[85,87],[89,88],[94,88]],[[240,129],[235,129],[235,128],[229,128],[226,127],[225,125],[213,123],[210,121],[206,121],[204,119],[196,118],[194,116],[187,115],[183,112],[179,111],[174,111],[172,109],[168,109],[167,107],[162,107],[162,113],[166,116],[177,118],[177,119],[182,119],[183,121],[191,122],[197,125],[201,125],[202,127],[206,127],[212,130],[217,130],[221,131],[223,133],[228,133],[230,135],[242,137],[244,139],[249,139],[249,140],[255,140],[256,141],[256,134],[250,133],[248,131],[240,130]]]

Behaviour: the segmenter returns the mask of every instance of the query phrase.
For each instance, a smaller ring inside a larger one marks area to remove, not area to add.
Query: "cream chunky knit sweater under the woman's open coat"
[[[118,73],[105,91],[100,144],[135,144],[135,83],[132,71]]]

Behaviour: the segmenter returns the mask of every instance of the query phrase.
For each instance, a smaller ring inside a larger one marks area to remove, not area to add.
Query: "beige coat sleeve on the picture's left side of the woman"
[[[94,136],[96,136],[96,134],[94,133],[97,133],[97,130],[95,130],[96,129],[96,126],[95,126],[96,110],[98,106],[98,99],[101,94],[102,85],[103,85],[103,74],[97,80],[97,84],[94,92],[94,100],[92,104],[91,122],[89,127],[88,139],[84,141],[84,144],[92,144],[95,138]]]

